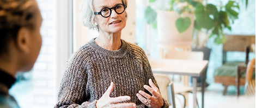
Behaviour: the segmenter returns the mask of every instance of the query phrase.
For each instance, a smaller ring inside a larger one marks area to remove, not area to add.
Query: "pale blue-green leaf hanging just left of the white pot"
[[[145,11],[145,19],[148,24],[153,24],[156,21],[157,13],[150,6],[147,7]]]

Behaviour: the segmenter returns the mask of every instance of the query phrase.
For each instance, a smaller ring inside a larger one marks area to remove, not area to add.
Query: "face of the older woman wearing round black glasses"
[[[94,12],[100,12],[103,8],[113,8],[117,4],[123,4],[121,0],[94,0]],[[117,14],[114,9],[111,10],[109,17],[95,15],[95,22],[99,26],[100,31],[108,33],[120,32],[126,25],[125,11],[122,14]]]

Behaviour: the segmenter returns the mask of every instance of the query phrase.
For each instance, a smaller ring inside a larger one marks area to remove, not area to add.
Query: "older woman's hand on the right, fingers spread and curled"
[[[139,93],[136,94],[136,96],[141,100],[143,104],[145,104],[148,107],[154,107],[154,108],[160,108],[163,106],[163,98],[160,94],[159,89],[156,87],[156,85],[152,82],[151,79],[149,79],[149,85],[144,85],[143,87],[148,90],[152,96],[150,96],[148,93],[145,93],[144,91],[139,91]]]

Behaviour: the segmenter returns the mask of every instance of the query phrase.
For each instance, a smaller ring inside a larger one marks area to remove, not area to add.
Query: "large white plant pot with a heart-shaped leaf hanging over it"
[[[191,19],[190,27],[182,32],[176,29],[175,22],[180,17],[174,11],[157,11],[158,42],[163,45],[191,45],[194,29],[194,14],[182,14]]]

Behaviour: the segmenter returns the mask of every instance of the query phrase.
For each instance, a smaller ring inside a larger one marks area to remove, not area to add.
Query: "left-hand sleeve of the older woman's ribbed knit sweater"
[[[54,107],[95,107],[97,100],[88,102],[90,95],[86,93],[88,75],[84,61],[79,53],[69,59]]]

